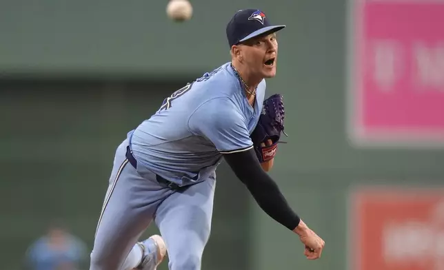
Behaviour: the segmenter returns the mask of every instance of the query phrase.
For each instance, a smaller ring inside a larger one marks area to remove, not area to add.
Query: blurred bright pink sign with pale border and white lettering
[[[444,1],[349,1],[352,137],[444,145]]]

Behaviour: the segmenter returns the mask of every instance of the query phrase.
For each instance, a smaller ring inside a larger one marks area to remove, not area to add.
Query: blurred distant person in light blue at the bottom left
[[[26,251],[26,265],[31,270],[79,270],[88,258],[85,243],[67,228],[53,223],[46,235]]]

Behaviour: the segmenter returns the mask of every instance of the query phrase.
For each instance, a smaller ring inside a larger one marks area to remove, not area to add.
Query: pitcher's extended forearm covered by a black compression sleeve
[[[274,180],[261,169],[253,149],[225,155],[225,160],[268,216],[290,230],[299,225],[299,216],[288,205]]]

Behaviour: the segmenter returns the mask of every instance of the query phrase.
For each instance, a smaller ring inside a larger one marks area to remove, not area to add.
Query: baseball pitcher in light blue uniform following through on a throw
[[[294,213],[267,174],[284,129],[276,32],[264,12],[239,10],[226,28],[231,61],[184,85],[117,147],[90,270],[199,270],[210,237],[216,167],[225,160],[259,207],[299,236],[305,256],[324,241]],[[137,242],[153,222],[161,236]]]

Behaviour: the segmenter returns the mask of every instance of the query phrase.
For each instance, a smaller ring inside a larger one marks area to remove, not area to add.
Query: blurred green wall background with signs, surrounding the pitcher
[[[116,147],[230,61],[242,8],[287,25],[267,96],[283,94],[289,138],[271,175],[326,246],[305,260],[223,164],[203,269],[444,269],[442,2],[192,0],[183,23],[167,3],[1,1],[0,269],[53,270],[37,267],[48,247],[77,265],[57,269],[88,269]]]

